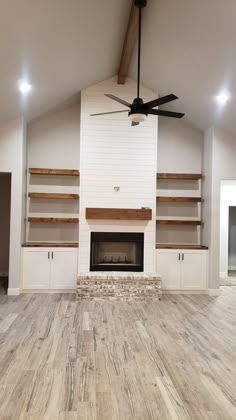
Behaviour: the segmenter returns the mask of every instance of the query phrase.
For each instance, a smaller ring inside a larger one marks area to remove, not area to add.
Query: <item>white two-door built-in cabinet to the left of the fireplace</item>
[[[23,290],[76,288],[77,248],[23,248]]]

